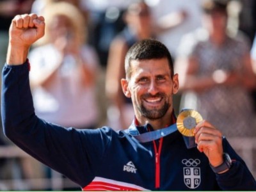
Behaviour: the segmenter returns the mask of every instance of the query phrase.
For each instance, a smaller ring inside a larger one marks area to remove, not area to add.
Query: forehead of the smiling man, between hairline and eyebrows
[[[131,76],[142,76],[146,74],[171,75],[167,58],[153,60],[132,60]]]

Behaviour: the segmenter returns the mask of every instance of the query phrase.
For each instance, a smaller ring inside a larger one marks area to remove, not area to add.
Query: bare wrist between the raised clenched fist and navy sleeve
[[[28,58],[29,47],[21,45],[8,45],[6,63],[8,65],[20,65]]]

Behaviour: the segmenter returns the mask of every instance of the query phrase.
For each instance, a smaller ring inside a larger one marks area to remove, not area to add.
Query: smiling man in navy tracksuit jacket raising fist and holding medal
[[[138,42],[125,58],[122,88],[131,97],[135,113],[126,131],[63,129],[38,118],[26,58],[29,46],[44,35],[44,27],[44,17],[35,14],[17,15],[10,26],[2,118],[4,133],[16,145],[84,191],[256,189],[246,164],[205,120],[195,127],[197,148],[187,147],[188,138],[179,131],[141,140],[175,124],[172,96],[178,92],[178,75],[173,74],[170,52],[156,40]]]

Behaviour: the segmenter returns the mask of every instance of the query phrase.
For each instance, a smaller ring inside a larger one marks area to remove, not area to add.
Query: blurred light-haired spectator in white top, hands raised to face
[[[83,15],[65,2],[49,4],[44,15],[42,45],[29,53],[36,115],[64,127],[94,129],[98,59],[86,45]]]

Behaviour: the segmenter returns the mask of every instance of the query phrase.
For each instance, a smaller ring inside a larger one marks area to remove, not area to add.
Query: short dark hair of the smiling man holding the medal
[[[152,60],[167,58],[170,67],[171,76],[173,77],[173,60],[167,47],[161,42],[154,39],[145,39],[136,42],[129,49],[125,56],[125,74],[126,78],[131,77],[131,61],[132,60]]]

